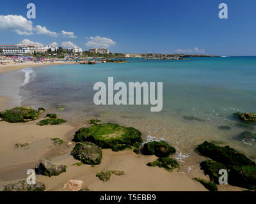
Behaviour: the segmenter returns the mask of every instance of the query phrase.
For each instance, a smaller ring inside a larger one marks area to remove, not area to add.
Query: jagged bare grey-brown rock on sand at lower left
[[[60,173],[66,172],[66,165],[61,164],[56,166],[49,159],[41,159],[38,168],[35,169],[37,174],[42,174],[48,177],[58,176]]]

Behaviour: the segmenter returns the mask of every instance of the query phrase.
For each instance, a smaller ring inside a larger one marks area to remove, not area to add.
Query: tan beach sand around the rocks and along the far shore
[[[0,73],[26,67],[31,67],[31,65],[1,67]],[[10,99],[0,96],[0,111],[13,108],[10,102]],[[45,113],[42,114],[41,119],[44,116]],[[60,126],[36,126],[38,121],[24,124],[0,122],[0,187],[26,179],[28,169],[35,168],[40,159],[49,158],[54,164],[67,165],[67,172],[51,178],[36,175],[36,181],[43,182],[46,185],[46,191],[68,191],[63,189],[63,186],[71,179],[83,180],[83,188],[91,191],[207,191],[204,186],[193,180],[195,177],[209,180],[199,170],[199,167],[198,170],[189,173],[176,170],[170,173],[163,168],[146,165],[150,161],[155,161],[157,157],[135,154],[132,150],[112,152],[104,149],[102,150],[102,162],[99,165],[94,167],[86,164],[72,165],[79,162],[70,156],[75,146],[72,138],[77,129],[81,127],[68,123]],[[86,125],[88,124],[84,124]],[[51,138],[61,138],[65,140],[65,143],[54,147]],[[14,145],[17,142],[30,143],[29,148],[15,149]],[[125,175],[113,175],[109,182],[103,183],[95,175],[104,170],[120,170],[124,171]],[[219,191],[243,190],[229,185],[218,187]]]

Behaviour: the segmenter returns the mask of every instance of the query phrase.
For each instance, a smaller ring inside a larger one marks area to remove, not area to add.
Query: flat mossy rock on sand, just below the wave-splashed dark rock
[[[158,158],[156,161],[147,163],[147,166],[158,166],[159,168],[164,168],[165,170],[172,172],[175,168],[179,168],[179,163],[175,159],[162,157]]]

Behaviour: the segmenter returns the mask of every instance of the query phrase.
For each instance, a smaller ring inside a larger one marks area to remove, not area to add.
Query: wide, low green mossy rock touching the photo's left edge
[[[17,107],[1,112],[0,117],[6,122],[16,123],[36,120],[40,117],[40,114],[32,108]]]

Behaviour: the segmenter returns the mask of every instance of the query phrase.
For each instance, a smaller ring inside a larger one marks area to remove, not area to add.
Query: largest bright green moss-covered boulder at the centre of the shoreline
[[[92,142],[102,149],[124,150],[142,143],[138,129],[119,126],[118,124],[94,124],[90,128],[81,128],[74,136],[75,142]]]

